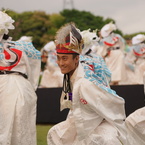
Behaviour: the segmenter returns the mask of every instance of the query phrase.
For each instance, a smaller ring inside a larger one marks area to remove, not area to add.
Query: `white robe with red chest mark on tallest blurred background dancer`
[[[113,41],[114,37],[118,38],[117,42]],[[105,57],[105,61],[108,66],[108,69],[111,71],[112,74],[111,81],[112,82],[124,81],[126,79],[126,69],[124,61],[125,43],[123,41],[123,38],[119,34],[112,33],[108,37],[103,38],[102,41],[104,42],[103,51],[101,54],[102,56],[106,55],[108,48],[119,47],[119,49],[111,50],[110,54],[107,57]]]

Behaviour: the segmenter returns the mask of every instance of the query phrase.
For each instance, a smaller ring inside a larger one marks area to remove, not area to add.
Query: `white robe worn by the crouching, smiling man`
[[[124,99],[84,78],[81,65],[71,83],[73,101],[61,98],[61,110],[69,106],[71,111],[66,121],[49,130],[48,145],[126,144]]]

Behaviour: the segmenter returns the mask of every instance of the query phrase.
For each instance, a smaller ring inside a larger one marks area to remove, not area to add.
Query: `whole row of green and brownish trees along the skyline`
[[[15,20],[15,30],[9,32],[13,40],[18,40],[21,36],[32,36],[33,44],[38,50],[49,41],[54,40],[56,31],[68,22],[74,22],[81,31],[89,28],[100,31],[105,24],[111,21],[115,23],[112,18],[104,19],[102,16],[95,16],[90,12],[76,9],[65,9],[59,14],[46,14],[44,11],[17,13],[13,10],[8,10],[6,13]],[[125,39],[132,38],[137,34],[145,34],[145,32],[140,32],[124,35],[119,29],[115,32]]]

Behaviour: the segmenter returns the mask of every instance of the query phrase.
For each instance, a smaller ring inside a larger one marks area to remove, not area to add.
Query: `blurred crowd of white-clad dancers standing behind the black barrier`
[[[116,26],[110,22],[98,33],[88,29],[83,30],[81,34],[87,48],[90,48],[93,54],[104,58],[111,72],[110,85],[143,84],[145,35],[137,34],[125,40],[121,35],[114,33],[114,30]],[[40,87],[62,87],[63,76],[56,64],[55,42],[48,42],[41,52],[42,63],[45,65]]]

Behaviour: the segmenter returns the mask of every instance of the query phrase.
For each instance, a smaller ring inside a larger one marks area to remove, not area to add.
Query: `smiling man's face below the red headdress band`
[[[79,55],[73,58],[72,54],[57,54],[57,64],[62,74],[73,72],[77,68],[78,62]]]

